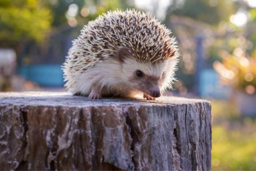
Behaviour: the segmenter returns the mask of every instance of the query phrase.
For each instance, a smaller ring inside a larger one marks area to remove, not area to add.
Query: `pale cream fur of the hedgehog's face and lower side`
[[[73,93],[89,95],[92,87],[96,85],[103,96],[134,97],[142,93],[154,96],[154,90],[159,89],[163,93],[171,88],[176,61],[175,58],[157,64],[140,63],[133,58],[126,58],[122,62],[99,61],[95,67],[78,76],[79,81]],[[136,78],[137,70],[143,72],[142,78]]]

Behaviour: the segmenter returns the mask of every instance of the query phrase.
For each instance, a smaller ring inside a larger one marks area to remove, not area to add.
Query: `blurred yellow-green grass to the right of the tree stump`
[[[256,170],[256,119],[240,116],[232,102],[211,105],[212,170]]]

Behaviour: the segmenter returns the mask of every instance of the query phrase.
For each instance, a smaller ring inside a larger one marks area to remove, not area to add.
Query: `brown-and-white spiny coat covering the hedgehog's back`
[[[63,64],[67,88],[76,84],[81,73],[92,69],[99,61],[111,60],[116,49],[130,49],[140,63],[163,63],[179,54],[172,31],[148,13],[130,9],[108,11],[83,26],[78,39],[72,41]]]

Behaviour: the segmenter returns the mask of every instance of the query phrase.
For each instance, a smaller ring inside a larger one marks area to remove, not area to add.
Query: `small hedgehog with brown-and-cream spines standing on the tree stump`
[[[175,81],[178,46],[171,31],[151,14],[108,11],[72,41],[63,64],[73,95],[154,100]]]

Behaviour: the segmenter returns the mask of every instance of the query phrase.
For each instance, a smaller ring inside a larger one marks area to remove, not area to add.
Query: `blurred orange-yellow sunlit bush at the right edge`
[[[255,94],[256,89],[256,9],[248,10],[251,16],[242,28],[225,23],[222,37],[217,37],[209,48],[209,60],[222,76],[222,82],[234,89]],[[208,60],[208,61],[209,61]],[[221,61],[214,62],[214,61]]]

